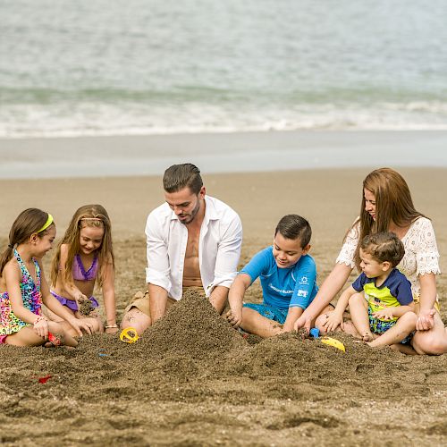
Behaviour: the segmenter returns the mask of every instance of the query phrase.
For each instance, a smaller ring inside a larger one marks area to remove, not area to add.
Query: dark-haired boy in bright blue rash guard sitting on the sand
[[[228,294],[227,320],[234,328],[263,338],[290,332],[316,296],[316,265],[308,255],[312,231],[300,215],[284,215],[274,232],[274,244],[244,266]],[[243,303],[245,291],[260,278],[263,303]],[[283,325],[283,326],[282,326]]]

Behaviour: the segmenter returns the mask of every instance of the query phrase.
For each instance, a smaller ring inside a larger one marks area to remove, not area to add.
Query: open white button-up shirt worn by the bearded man
[[[198,241],[198,265],[207,297],[222,285],[230,287],[237,274],[242,245],[242,223],[231,207],[205,196],[205,216]],[[146,223],[148,267],[146,282],[163,287],[181,299],[188,229],[164,203]]]

